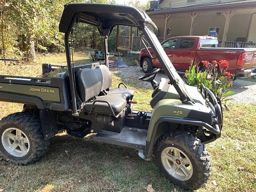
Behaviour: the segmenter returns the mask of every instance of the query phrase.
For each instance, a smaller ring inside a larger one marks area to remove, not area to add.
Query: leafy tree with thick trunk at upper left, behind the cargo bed
[[[10,30],[16,32],[16,40],[25,59],[34,60],[35,41],[43,44],[60,44],[62,34],[58,23],[64,7],[63,0],[5,0],[3,18]]]

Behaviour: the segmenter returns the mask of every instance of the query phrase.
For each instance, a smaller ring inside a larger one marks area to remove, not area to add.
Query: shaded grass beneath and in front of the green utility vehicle
[[[1,187],[6,191],[34,191],[51,185],[53,191],[61,192],[141,192],[148,184],[160,192],[184,191],[165,180],[153,160],[141,160],[133,149],[68,135],[54,137],[50,151],[35,164],[16,166],[2,161],[0,168]]]

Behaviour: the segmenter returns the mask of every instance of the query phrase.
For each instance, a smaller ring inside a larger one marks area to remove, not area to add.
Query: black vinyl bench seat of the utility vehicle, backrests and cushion
[[[95,69],[79,69],[76,73],[77,93],[87,112],[92,110],[92,113],[112,114],[113,110],[117,115],[126,108],[134,92],[128,88],[111,89],[111,85],[112,76],[105,65],[99,65]]]

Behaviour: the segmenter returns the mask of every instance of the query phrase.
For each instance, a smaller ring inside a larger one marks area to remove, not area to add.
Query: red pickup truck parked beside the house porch
[[[202,69],[202,60],[228,60],[227,71],[236,77],[256,76],[256,48],[218,48],[217,38],[210,36],[176,36],[165,40],[162,47],[180,72],[185,72],[191,61]],[[154,57],[152,49],[148,49]],[[139,63],[145,73],[161,68],[159,61],[152,60],[145,48],[140,51]]]

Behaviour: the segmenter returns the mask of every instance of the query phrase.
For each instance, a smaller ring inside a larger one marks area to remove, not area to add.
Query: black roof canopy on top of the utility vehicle
[[[61,16],[59,31],[69,32],[74,22],[96,26],[101,36],[108,36],[117,25],[140,27],[145,21],[157,30],[148,15],[137,8],[112,4],[67,4]]]

